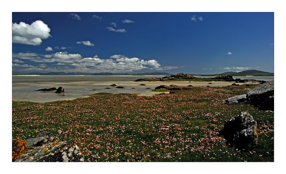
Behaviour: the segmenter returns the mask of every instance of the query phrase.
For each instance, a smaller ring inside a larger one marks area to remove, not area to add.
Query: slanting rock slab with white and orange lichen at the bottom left
[[[84,162],[84,157],[72,141],[61,141],[36,147],[15,162]]]

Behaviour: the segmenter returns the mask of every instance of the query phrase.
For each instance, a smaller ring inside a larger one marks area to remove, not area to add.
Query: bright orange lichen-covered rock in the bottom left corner
[[[23,154],[28,153],[28,146],[24,140],[12,139],[12,162],[19,159]]]

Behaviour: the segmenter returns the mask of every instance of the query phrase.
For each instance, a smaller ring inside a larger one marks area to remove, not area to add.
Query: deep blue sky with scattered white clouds
[[[13,72],[274,72],[274,13],[12,13]]]

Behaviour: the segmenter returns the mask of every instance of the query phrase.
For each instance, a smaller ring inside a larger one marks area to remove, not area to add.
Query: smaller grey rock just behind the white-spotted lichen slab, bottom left
[[[24,141],[27,144],[28,149],[33,149],[34,147],[38,147],[46,143],[59,142],[59,138],[55,137],[53,133],[42,131],[36,136],[36,138],[30,138]]]

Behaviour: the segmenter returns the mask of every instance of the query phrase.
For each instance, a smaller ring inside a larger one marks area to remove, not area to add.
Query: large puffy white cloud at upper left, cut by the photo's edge
[[[25,22],[12,23],[12,43],[40,45],[42,39],[51,37],[51,29],[43,21],[35,21],[31,25]]]

